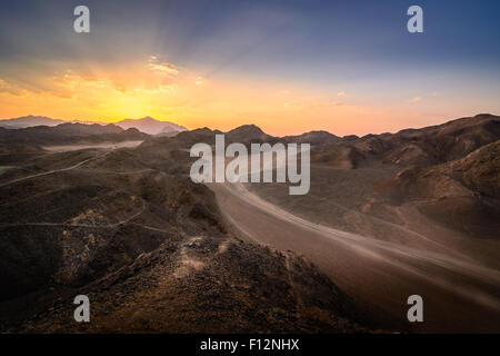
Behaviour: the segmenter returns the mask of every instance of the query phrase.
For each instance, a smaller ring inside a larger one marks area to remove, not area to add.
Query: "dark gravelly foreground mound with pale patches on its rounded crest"
[[[36,333],[360,332],[352,301],[293,255],[224,236],[168,241],[82,289],[92,320],[61,300],[22,325]],[[53,309],[51,309],[53,308]]]

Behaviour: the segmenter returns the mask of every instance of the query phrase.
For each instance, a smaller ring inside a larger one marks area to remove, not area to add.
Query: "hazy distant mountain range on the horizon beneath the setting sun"
[[[29,127],[36,127],[36,126],[58,126],[61,123],[79,123],[79,125],[100,125],[100,126],[107,126],[102,122],[93,122],[93,121],[81,121],[81,120],[60,120],[60,119],[52,119],[43,116],[26,116],[26,117],[19,117],[13,119],[7,119],[7,120],[0,120],[0,127],[7,128],[7,129],[23,129]],[[124,130],[128,130],[130,128],[136,128],[141,132],[148,134],[148,135],[159,135],[159,136],[172,136],[177,132],[186,131],[187,128],[183,126],[176,125],[173,122],[169,121],[160,121],[156,120],[151,117],[144,117],[142,119],[126,119],[121,120],[119,122],[114,123],[118,127],[121,127]],[[82,127],[80,127],[83,129]],[[83,129],[84,130],[84,129]],[[109,134],[109,132],[108,132]],[[114,132],[117,134],[117,132]]]

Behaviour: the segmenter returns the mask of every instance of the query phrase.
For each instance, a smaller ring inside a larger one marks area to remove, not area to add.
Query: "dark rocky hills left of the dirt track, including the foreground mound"
[[[1,332],[364,329],[316,267],[231,235],[212,191],[162,168],[179,157],[138,151],[42,154],[0,176]],[[74,322],[80,294],[96,323]]]

